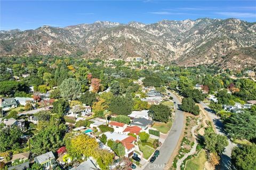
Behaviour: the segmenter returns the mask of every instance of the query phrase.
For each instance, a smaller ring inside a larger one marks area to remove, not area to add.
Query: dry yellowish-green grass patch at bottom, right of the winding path
[[[206,162],[205,150],[201,150],[197,157],[191,158],[187,161],[185,170],[202,170]]]

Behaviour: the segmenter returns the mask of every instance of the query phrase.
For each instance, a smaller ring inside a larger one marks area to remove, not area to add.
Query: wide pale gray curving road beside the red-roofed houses
[[[170,91],[167,91],[170,92]],[[183,122],[184,122],[184,114],[180,111],[177,104],[181,104],[179,99],[170,92],[171,96],[173,97],[174,101],[176,102],[175,105],[175,118],[172,124],[172,128],[167,135],[162,147],[160,150],[160,155],[156,158],[154,163],[149,163],[144,169],[169,169],[166,167],[167,163],[169,162],[170,157],[173,154],[175,147],[178,144],[182,129],[183,129]]]

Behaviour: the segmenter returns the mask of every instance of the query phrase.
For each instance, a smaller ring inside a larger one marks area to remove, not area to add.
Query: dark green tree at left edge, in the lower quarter
[[[22,132],[17,126],[0,129],[0,152],[20,147]]]

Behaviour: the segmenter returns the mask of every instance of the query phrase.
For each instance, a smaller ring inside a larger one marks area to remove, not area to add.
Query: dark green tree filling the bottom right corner
[[[256,145],[243,145],[235,147],[231,153],[231,161],[237,169],[250,170],[255,169]]]

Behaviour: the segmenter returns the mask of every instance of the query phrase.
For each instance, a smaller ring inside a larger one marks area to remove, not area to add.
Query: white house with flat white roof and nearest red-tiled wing
[[[135,145],[134,142],[137,141],[136,138],[126,135],[126,134],[120,134],[116,132],[105,132],[103,133],[106,135],[107,139],[111,139],[113,141],[119,141],[122,143],[122,145],[125,148],[125,156],[130,157],[133,155],[134,150],[135,150]]]

